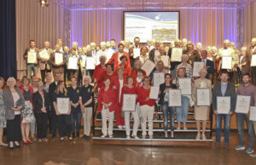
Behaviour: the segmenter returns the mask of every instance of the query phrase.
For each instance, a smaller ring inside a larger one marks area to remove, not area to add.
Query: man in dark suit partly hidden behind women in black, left
[[[53,105],[53,96],[55,94],[55,89],[57,88],[57,84],[61,79],[60,73],[55,73],[54,75],[55,81],[49,85],[49,102],[50,102],[50,111],[49,111],[49,132],[52,134],[52,137],[56,137],[56,128],[57,128],[57,117],[55,113],[55,107]]]

